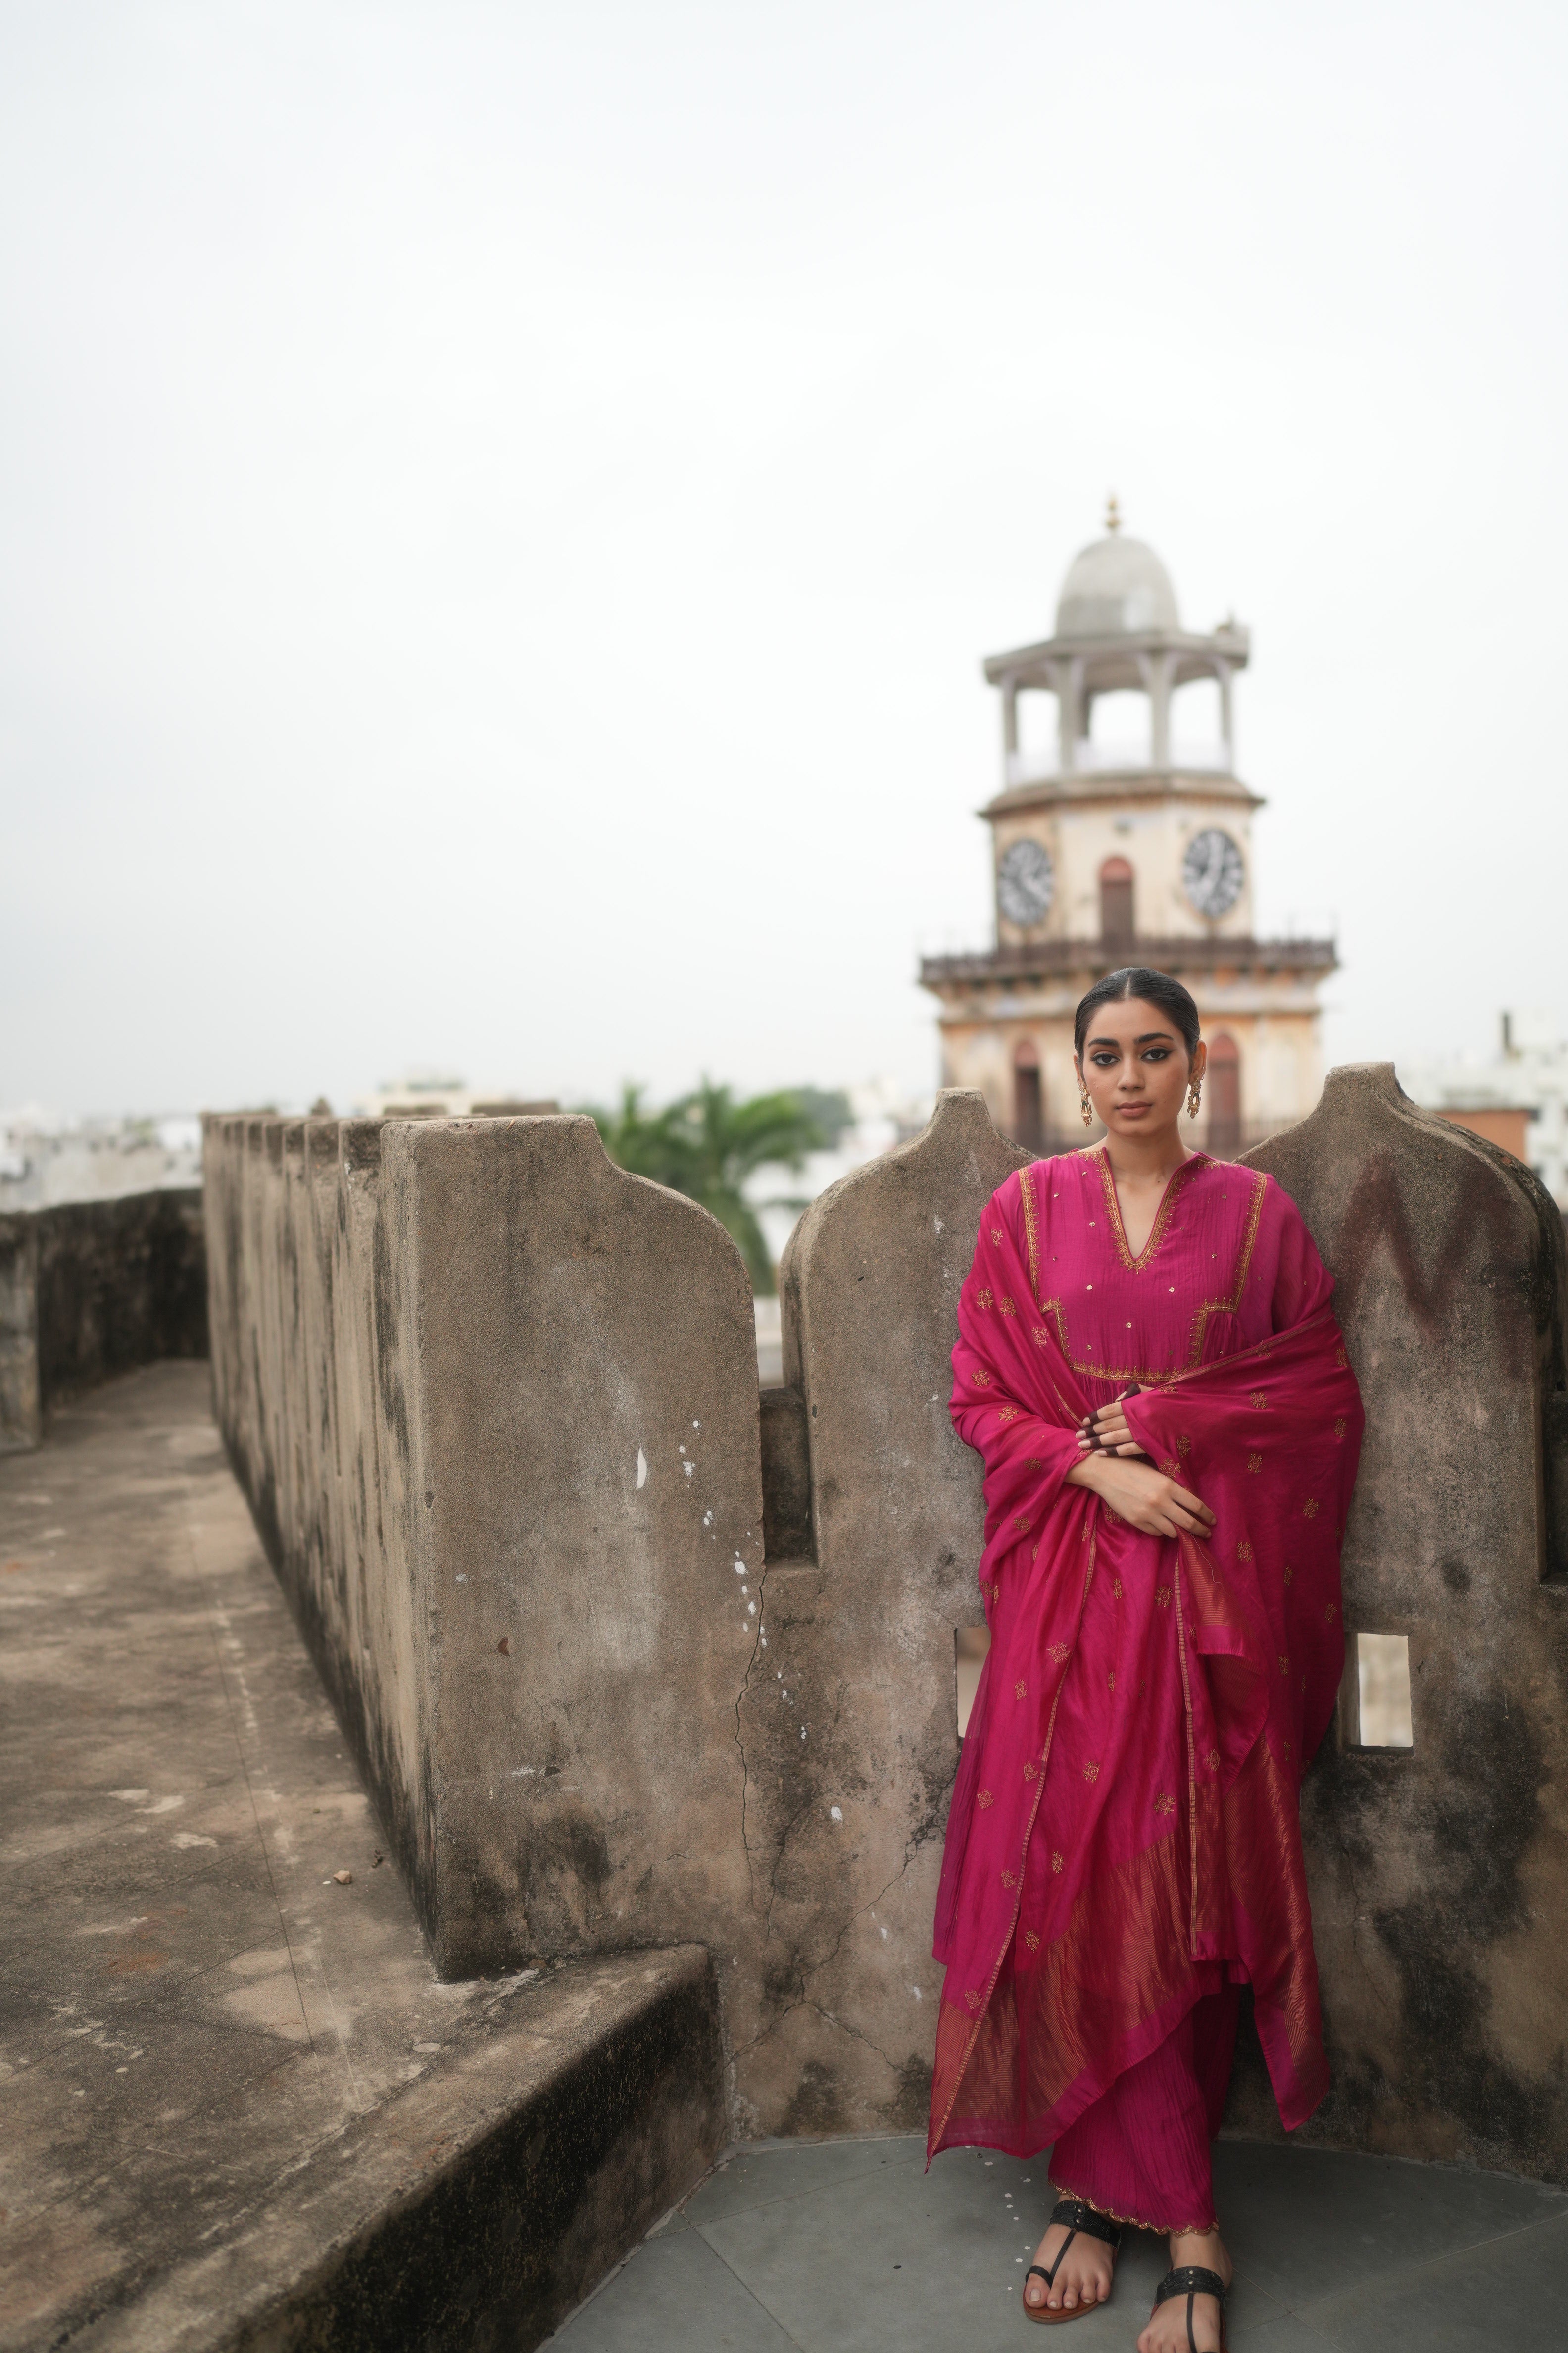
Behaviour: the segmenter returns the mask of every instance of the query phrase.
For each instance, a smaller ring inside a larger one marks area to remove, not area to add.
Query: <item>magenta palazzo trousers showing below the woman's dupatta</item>
[[[1237,2047],[1234,1986],[1208,1993],[1159,2049],[1117,2075],[1051,2151],[1051,2184],[1145,2231],[1213,2231],[1211,2141]]]

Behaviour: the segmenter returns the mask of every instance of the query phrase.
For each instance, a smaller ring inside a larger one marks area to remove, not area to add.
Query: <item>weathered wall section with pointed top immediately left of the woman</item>
[[[762,2129],[924,2122],[931,1913],[957,1772],[954,1626],[980,1619],[980,1464],[952,1431],[954,1299],[1023,1162],[978,1094],[853,1169],[795,1228],[785,1384],[804,1400],[806,1560],[769,1560],[748,1675],[745,1845],[766,2028],[738,2054]]]

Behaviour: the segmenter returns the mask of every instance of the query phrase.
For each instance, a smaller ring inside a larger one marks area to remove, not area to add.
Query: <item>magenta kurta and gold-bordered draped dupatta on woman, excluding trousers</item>
[[[1204,1155],[1138,1257],[1103,1153],[1009,1176],[980,1221],[952,1419],[985,1457],[992,1647],[936,1913],[931,2155],[1034,2155],[1227,1979],[1286,2127],[1328,2087],[1298,1795],[1361,1445],[1328,1294],[1288,1195]],[[1065,1485],[1081,1417],[1133,1381],[1208,1541]]]

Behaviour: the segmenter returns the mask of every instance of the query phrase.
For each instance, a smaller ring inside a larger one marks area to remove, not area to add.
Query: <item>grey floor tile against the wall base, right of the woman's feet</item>
[[[1561,2191],[1512,2174],[1272,2141],[1220,2141],[1215,2202],[1239,2282],[1288,2311],[1568,2212]]]

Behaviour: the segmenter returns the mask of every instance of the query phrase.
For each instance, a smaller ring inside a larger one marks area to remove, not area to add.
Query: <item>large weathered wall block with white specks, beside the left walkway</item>
[[[724,1228],[574,1118],[214,1120],[207,1214],[230,1459],[442,1974],[701,1939],[755,2012]]]

